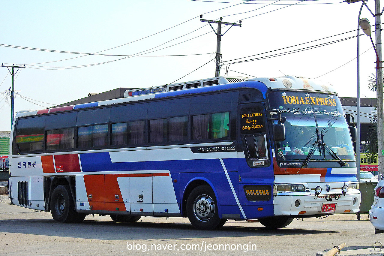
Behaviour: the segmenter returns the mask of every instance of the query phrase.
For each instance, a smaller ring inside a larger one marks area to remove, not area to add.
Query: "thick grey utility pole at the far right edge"
[[[384,168],[384,101],[383,101],[383,73],[382,73],[382,52],[381,52],[381,12],[380,1],[375,0],[375,35],[376,35],[376,87],[377,87],[377,146],[378,146],[378,167],[379,173]]]

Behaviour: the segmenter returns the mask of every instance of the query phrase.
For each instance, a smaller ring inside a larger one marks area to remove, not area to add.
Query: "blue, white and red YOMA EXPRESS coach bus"
[[[124,98],[19,111],[12,204],[58,223],[188,217],[283,228],[358,213],[356,127],[333,86],[296,76],[215,77]]]

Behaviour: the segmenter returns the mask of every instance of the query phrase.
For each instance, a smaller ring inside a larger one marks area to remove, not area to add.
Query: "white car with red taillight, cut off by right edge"
[[[375,198],[368,212],[369,220],[375,228],[375,233],[384,232],[384,180],[380,179],[375,188]]]

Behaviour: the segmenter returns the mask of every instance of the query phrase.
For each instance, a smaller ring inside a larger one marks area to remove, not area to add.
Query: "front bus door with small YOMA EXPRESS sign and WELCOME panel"
[[[271,202],[274,175],[264,103],[241,104],[239,114],[239,201],[242,205]]]

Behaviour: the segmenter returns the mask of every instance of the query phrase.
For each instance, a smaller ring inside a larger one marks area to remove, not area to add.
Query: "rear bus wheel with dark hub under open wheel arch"
[[[74,210],[71,189],[68,185],[59,185],[53,190],[51,195],[51,214],[52,218],[58,223],[73,223],[76,221],[76,217],[79,217],[79,213],[76,213]],[[78,221],[81,218],[78,218]]]

